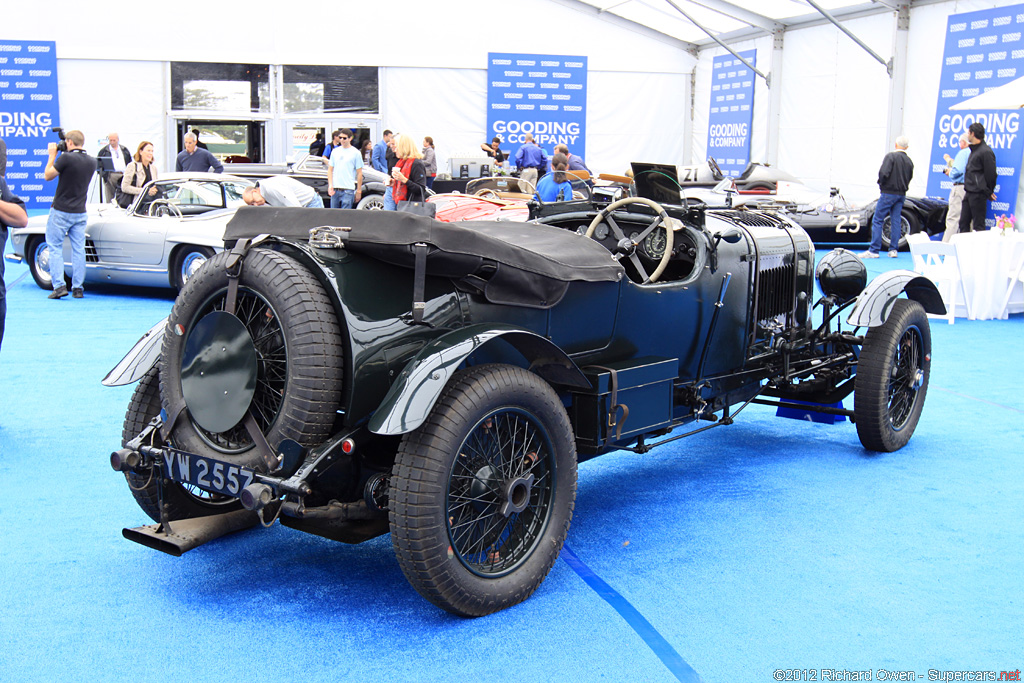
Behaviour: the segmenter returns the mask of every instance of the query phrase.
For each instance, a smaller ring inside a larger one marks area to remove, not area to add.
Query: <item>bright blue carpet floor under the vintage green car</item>
[[[596,582],[566,555],[525,603],[461,620],[413,591],[388,537],[275,525],[181,558],[123,540],[147,521],[108,465],[132,387],[99,380],[171,293],[49,301],[25,274],[7,264],[0,680],[671,682],[673,653],[707,683],[1020,667],[1024,316],[933,324],[898,453],[751,407],[583,464],[568,546]]]

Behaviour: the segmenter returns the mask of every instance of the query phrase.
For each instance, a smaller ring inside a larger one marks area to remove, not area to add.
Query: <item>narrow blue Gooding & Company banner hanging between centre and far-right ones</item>
[[[739,52],[757,67],[757,50]],[[737,177],[751,161],[751,123],[754,121],[754,72],[726,54],[715,57],[711,69],[711,112],[708,116],[708,156],[722,173]]]

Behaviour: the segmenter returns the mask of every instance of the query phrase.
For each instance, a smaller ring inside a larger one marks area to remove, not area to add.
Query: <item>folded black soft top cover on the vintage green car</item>
[[[242,207],[224,242],[272,234],[308,240],[314,227],[348,227],[345,248],[412,267],[413,245],[429,247],[427,272],[486,282],[495,303],[547,308],[570,282],[617,282],[623,267],[607,249],[570,230],[537,223],[444,223],[397,211]]]

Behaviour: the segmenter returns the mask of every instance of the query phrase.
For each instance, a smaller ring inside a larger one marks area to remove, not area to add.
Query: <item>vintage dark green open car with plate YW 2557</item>
[[[784,217],[642,198],[534,222],[244,207],[225,242],[104,380],[141,379],[111,462],[158,524],[125,536],[180,555],[274,520],[389,531],[463,615],[544,581],[580,461],[752,401],[824,404],[900,449],[944,311],[913,272],[868,284],[844,250],[815,268]]]

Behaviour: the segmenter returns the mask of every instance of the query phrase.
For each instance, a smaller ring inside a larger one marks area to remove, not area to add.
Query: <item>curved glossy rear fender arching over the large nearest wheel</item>
[[[552,384],[589,388],[572,359],[553,342],[511,325],[471,325],[430,342],[402,369],[370,419],[370,431],[395,435],[423,424],[441,390],[473,351],[502,338],[529,360],[530,371]]]

